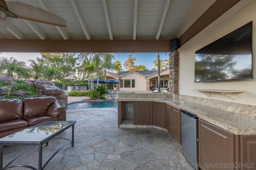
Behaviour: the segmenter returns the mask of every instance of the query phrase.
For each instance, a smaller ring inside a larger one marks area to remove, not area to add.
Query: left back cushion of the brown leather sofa
[[[0,122],[22,119],[22,100],[0,100]]]

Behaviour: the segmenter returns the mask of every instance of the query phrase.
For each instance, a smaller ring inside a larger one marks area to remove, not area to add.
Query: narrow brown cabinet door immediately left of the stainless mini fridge
[[[171,129],[172,135],[181,144],[181,124],[180,124],[180,109],[172,107],[171,109]]]

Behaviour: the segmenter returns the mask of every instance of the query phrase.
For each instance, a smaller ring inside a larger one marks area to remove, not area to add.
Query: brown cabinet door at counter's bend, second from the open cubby
[[[165,128],[165,103],[153,102],[153,125]]]

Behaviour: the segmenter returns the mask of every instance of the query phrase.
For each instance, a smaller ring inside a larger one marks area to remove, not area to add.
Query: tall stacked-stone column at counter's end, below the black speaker
[[[173,97],[178,96],[178,70],[179,70],[179,53],[177,50],[173,50],[170,54],[170,82],[169,90]],[[176,98],[176,97],[175,97]]]

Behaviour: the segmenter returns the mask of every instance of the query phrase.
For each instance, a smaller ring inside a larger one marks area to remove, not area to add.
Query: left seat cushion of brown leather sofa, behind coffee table
[[[0,132],[10,131],[12,129],[19,129],[22,127],[28,127],[28,122],[22,119],[16,119],[0,123]]]

